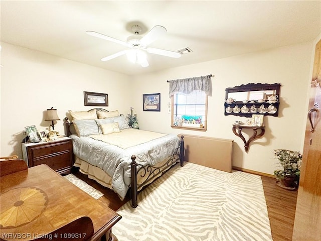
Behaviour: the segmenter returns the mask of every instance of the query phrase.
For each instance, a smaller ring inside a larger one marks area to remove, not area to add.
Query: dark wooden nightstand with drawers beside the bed
[[[68,137],[42,143],[22,143],[23,158],[28,167],[47,164],[59,174],[71,173],[72,140]]]

